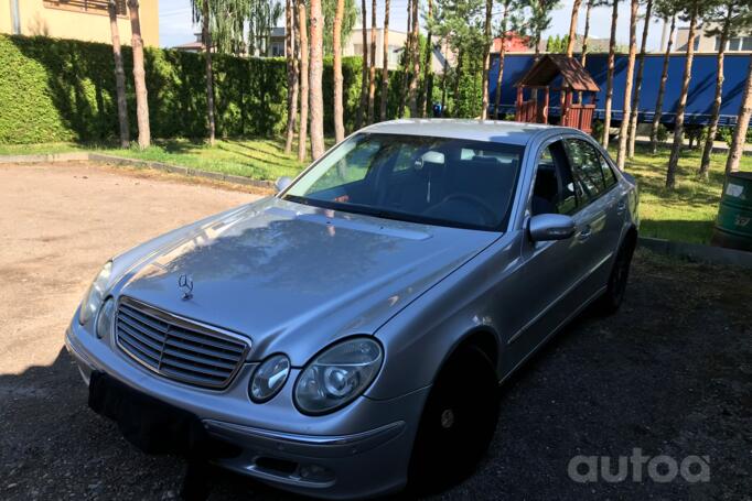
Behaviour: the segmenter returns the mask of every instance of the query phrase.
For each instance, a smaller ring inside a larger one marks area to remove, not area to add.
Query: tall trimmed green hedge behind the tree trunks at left
[[[128,46],[123,46],[123,62],[131,135],[136,137],[132,58]],[[152,135],[205,137],[204,55],[149,47],[146,72]],[[344,58],[343,75],[350,130],[358,106],[361,58]],[[283,58],[215,55],[214,76],[218,135],[273,135],[284,129]],[[325,62],[323,87],[325,127],[331,130],[331,61]],[[108,141],[117,138],[117,128],[110,45],[0,35],[0,143]]]

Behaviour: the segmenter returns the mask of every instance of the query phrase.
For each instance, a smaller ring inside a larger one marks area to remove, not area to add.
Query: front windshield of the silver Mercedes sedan
[[[283,198],[430,225],[503,231],[523,146],[421,135],[356,134]]]

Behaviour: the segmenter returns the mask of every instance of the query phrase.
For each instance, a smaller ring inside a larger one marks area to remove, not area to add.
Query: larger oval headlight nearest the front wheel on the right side
[[[303,369],[294,388],[298,409],[304,414],[325,414],[361,395],[382,367],[382,347],[372,338],[339,342]]]

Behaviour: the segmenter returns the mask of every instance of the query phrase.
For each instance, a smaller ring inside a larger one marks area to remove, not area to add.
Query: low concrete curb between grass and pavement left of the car
[[[202,177],[212,181],[223,181],[226,183],[240,184],[245,186],[255,186],[265,189],[276,189],[275,183],[271,181],[251,179],[249,177],[236,176],[233,174],[222,174],[218,172],[198,171],[196,168],[184,167],[182,165],[172,165],[163,162],[153,162],[149,160],[126,159],[116,155],[106,155],[103,153],[88,152],[72,152],[72,153],[54,153],[41,155],[0,155],[0,164],[12,163],[40,163],[40,162],[74,162],[74,161],[90,161],[101,162],[111,165],[127,165],[139,168],[153,168],[157,171],[182,174],[184,176]]]

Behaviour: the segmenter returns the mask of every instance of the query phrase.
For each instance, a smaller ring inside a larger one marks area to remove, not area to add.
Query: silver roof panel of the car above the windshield
[[[361,130],[383,134],[427,135],[456,138],[470,141],[488,141],[504,144],[526,145],[535,135],[546,131],[571,132],[565,127],[540,123],[507,122],[502,120],[469,119],[400,119],[375,123]]]

